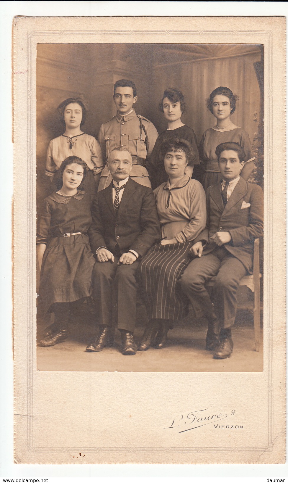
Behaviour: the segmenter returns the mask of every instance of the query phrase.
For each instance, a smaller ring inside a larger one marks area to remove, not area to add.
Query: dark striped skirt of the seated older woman
[[[154,245],[140,267],[144,301],[150,319],[181,319],[188,313],[188,299],[179,279],[191,261],[193,241]]]

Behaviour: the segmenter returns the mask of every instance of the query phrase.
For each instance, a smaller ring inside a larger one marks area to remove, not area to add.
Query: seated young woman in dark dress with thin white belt
[[[86,234],[92,222],[90,198],[78,189],[87,171],[82,159],[67,157],[59,168],[58,191],[44,199],[39,213],[39,299],[44,313],[55,314],[40,341],[44,347],[67,337],[71,305],[92,294],[95,259]]]

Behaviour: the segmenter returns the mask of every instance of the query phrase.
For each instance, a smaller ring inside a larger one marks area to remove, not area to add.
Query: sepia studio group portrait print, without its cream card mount
[[[262,371],[263,66],[261,44],[37,44],[39,370]]]

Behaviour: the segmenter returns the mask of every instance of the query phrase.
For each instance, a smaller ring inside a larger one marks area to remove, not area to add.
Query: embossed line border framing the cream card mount
[[[243,452],[271,452],[273,443],[273,290],[272,290],[272,275],[273,275],[273,237],[272,237],[272,227],[273,227],[273,196],[272,196],[272,181],[273,181],[273,163],[272,163],[272,149],[273,149],[273,129],[272,129],[272,119],[273,119],[273,32],[266,30],[31,30],[27,32],[27,238],[28,238],[28,270],[27,270],[27,449],[29,452],[33,453],[53,453],[53,452],[71,452],[78,451],[79,448],[73,447],[35,447],[33,446],[32,439],[32,414],[33,414],[33,304],[35,303],[35,298],[33,296],[33,196],[34,196],[34,185],[33,177],[31,173],[33,172],[33,37],[36,36],[61,36],[65,37],[68,35],[73,35],[73,37],[83,37],[87,35],[113,35],[115,36],[157,36],[157,35],[168,35],[179,37],[185,35],[205,35],[205,36],[219,36],[219,35],[231,35],[231,36],[251,36],[256,37],[259,40],[259,35],[267,37],[267,48],[265,49],[265,62],[268,65],[268,86],[267,86],[267,105],[265,109],[267,110],[267,139],[264,140],[264,146],[267,146],[267,227],[265,230],[265,236],[267,237],[267,273],[266,284],[269,304],[267,304],[267,321],[268,321],[268,334],[267,334],[267,345],[268,345],[268,441],[266,446],[249,446],[245,448],[240,447],[158,447],[158,448],[147,448],[147,447],[93,447],[93,448],[81,448],[82,451],[87,453],[166,453],[167,451],[172,453],[243,453]],[[79,39],[79,43],[81,42]],[[59,43],[59,41],[57,41]],[[193,42],[195,43],[195,42]],[[208,42],[206,42],[208,43]],[[252,42],[251,42],[252,43]],[[257,42],[256,42],[257,43]]]

